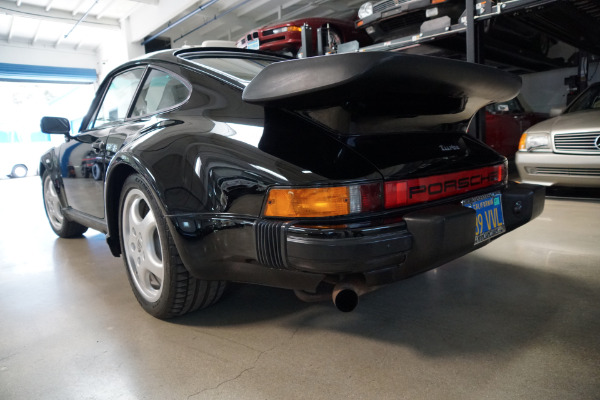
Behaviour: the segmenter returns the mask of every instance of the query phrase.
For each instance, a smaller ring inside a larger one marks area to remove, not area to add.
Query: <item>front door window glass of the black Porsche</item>
[[[143,74],[144,68],[136,68],[113,78],[92,128],[100,128],[125,120],[135,89]]]

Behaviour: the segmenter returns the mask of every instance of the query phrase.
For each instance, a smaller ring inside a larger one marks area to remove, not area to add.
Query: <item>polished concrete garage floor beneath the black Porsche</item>
[[[600,200],[356,311],[236,285],[164,322],[104,236],[57,239],[39,178],[0,181],[0,399],[599,399]]]

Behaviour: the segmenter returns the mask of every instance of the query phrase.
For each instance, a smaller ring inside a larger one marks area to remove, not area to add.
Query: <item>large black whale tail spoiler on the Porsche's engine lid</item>
[[[288,110],[335,108],[349,120],[396,120],[408,129],[469,121],[515,97],[521,79],[495,68],[438,57],[350,53],[274,63],[245,88],[251,104]]]

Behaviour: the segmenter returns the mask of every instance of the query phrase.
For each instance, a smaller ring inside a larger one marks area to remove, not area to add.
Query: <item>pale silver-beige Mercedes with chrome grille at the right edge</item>
[[[515,161],[526,183],[600,187],[600,83],[560,116],[527,129]]]

